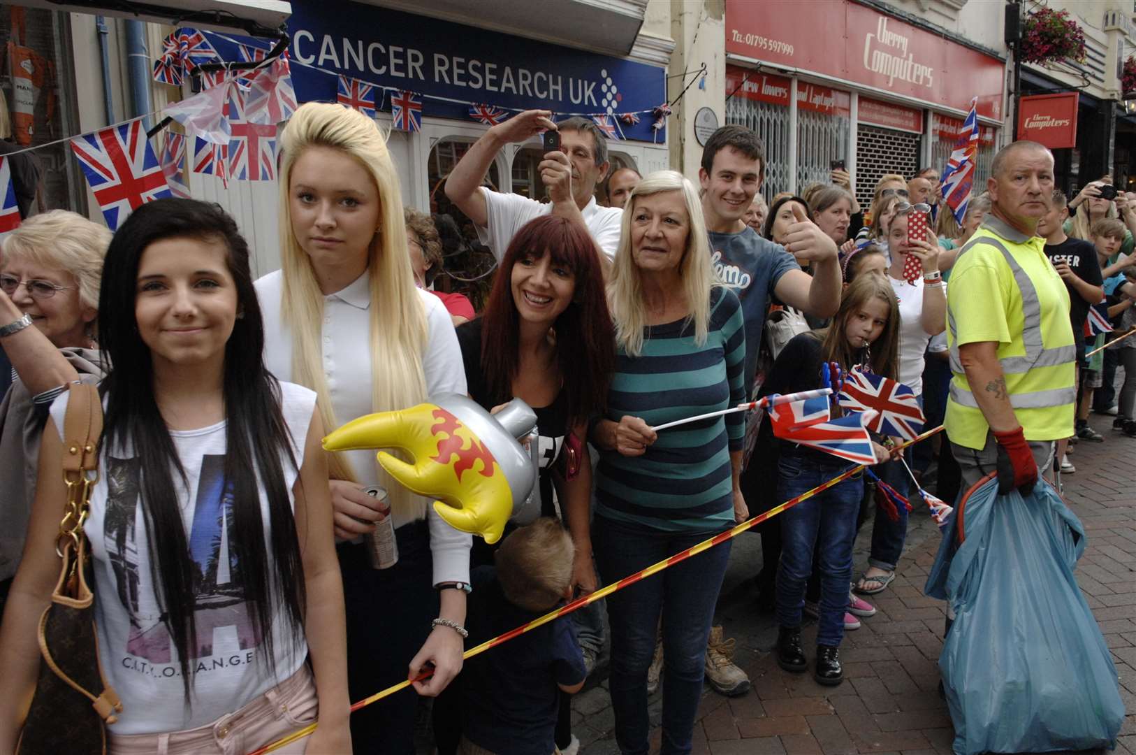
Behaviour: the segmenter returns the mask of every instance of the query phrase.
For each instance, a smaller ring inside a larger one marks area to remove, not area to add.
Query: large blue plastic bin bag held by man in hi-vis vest
[[[955,506],[926,592],[954,623],[938,658],[954,752],[1116,746],[1117,670],[1074,566],[1085,530],[1047,483],[1022,498],[991,476]]]

